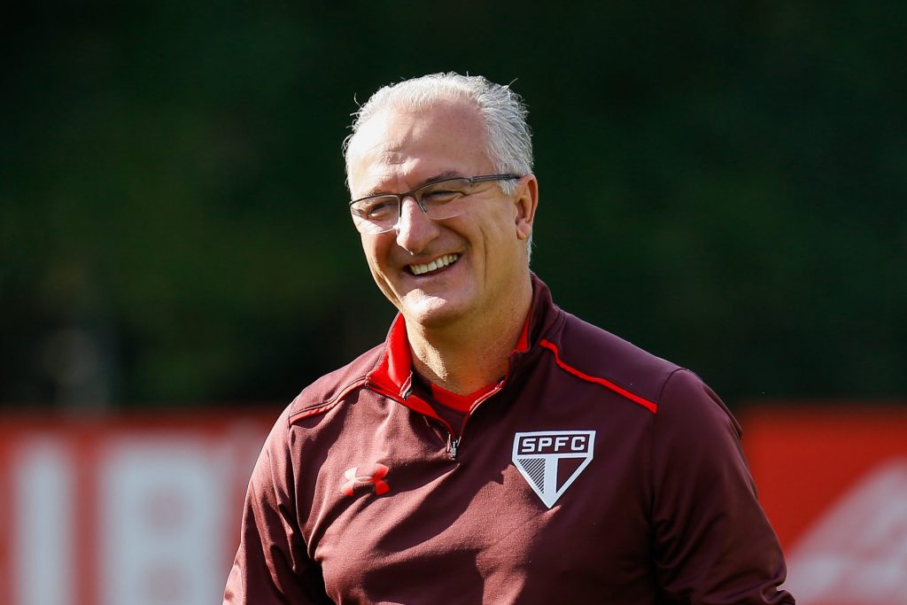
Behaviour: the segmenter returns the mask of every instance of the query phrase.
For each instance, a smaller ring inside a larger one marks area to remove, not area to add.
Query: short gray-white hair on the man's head
[[[485,153],[495,171],[520,176],[532,173],[532,131],[526,123],[529,110],[519,94],[509,85],[493,83],[481,75],[431,73],[384,86],[353,113],[353,132],[343,143],[347,187],[349,148],[362,124],[385,109],[424,107],[454,99],[472,101],[482,114],[487,134]],[[501,188],[510,194],[515,185],[513,181],[501,181]]]

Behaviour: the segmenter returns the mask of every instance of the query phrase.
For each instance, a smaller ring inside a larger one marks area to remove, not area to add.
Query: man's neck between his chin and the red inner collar
[[[507,298],[497,313],[470,317],[441,328],[407,323],[414,370],[435,385],[457,395],[469,395],[507,373],[532,305],[527,278],[516,296]]]

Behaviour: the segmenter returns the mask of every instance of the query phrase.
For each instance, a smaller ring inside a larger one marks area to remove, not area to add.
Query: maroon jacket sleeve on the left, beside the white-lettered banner
[[[271,429],[252,471],[224,605],[333,602],[299,532],[287,415]]]

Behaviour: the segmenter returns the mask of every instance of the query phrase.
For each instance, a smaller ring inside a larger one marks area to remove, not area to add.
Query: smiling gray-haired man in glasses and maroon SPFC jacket
[[[793,603],[739,428],[687,370],[553,305],[506,86],[385,87],[346,145],[399,309],[268,436],[225,603]]]

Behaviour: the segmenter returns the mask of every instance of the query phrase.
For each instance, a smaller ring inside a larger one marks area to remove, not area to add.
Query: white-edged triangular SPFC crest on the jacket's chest
[[[595,431],[540,431],[513,437],[513,465],[551,508],[592,462]]]

